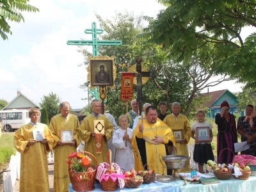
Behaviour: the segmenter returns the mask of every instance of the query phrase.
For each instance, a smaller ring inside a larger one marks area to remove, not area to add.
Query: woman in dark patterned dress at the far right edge
[[[251,104],[246,106],[245,116],[240,116],[237,122],[237,132],[241,134],[241,141],[250,143],[248,150],[241,151],[241,154],[256,156],[256,118]]]

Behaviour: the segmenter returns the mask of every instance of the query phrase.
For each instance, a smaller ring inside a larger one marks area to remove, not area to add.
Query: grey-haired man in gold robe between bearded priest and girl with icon
[[[182,129],[183,140],[176,141],[177,155],[187,156],[188,155],[188,142],[191,138],[191,127],[188,122],[188,118],[185,115],[180,114],[180,104],[179,102],[173,102],[172,104],[172,114],[167,115],[163,122],[171,127],[172,131]],[[177,172],[190,172],[190,163],[187,161],[184,168],[177,170]]]

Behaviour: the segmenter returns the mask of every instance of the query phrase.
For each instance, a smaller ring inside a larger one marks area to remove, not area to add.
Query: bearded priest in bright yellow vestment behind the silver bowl
[[[159,158],[159,154],[169,155],[170,147],[175,150],[175,139],[172,129],[157,118],[157,110],[154,106],[148,106],[145,114],[146,119],[138,122],[131,138],[135,170],[143,170],[143,166],[148,164],[150,170],[162,174],[165,163]],[[172,170],[164,169],[164,174],[172,175]]]

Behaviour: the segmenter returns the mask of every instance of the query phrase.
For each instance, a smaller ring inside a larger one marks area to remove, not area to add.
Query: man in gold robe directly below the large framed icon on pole
[[[98,164],[106,162],[106,156],[108,153],[108,140],[110,140],[112,132],[114,130],[114,127],[109,121],[108,117],[100,114],[100,105],[101,104],[99,100],[92,100],[91,106],[93,113],[91,115],[86,116],[86,118],[84,118],[82,124],[79,127],[79,130],[81,131],[81,138],[85,142],[85,150],[96,157]],[[104,120],[104,135],[102,136],[101,142],[97,143],[97,148],[100,148],[100,151],[96,149],[97,136],[94,130],[94,120]],[[91,163],[96,165],[94,158],[92,157],[91,159]]]

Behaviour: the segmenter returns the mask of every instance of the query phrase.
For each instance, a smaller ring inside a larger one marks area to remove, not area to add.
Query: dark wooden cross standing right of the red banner
[[[134,74],[137,77],[137,102],[139,104],[139,110],[140,115],[142,111],[142,102],[143,102],[143,96],[142,96],[142,77],[152,77],[155,78],[154,72],[142,72],[141,71],[141,62],[142,58],[140,56],[136,56],[135,63],[136,63],[136,74]]]

